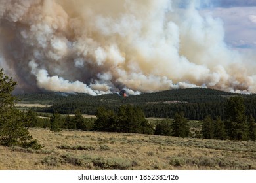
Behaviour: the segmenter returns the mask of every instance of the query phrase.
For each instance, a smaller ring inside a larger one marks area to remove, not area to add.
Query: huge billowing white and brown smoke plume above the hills
[[[256,66],[188,2],[1,0],[0,67],[20,92],[256,92]]]

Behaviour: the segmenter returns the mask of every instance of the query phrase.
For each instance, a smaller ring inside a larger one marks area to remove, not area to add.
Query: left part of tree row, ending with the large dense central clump
[[[25,114],[30,118],[30,127],[48,127],[51,131],[79,129],[83,131],[154,133],[154,125],[146,120],[140,108],[133,107],[132,105],[119,107],[117,114],[113,110],[99,107],[96,111],[96,120],[93,118],[83,118],[78,110],[75,112],[75,116],[62,116],[58,112],[54,112],[50,119],[37,118],[37,114],[32,110],[28,110]]]

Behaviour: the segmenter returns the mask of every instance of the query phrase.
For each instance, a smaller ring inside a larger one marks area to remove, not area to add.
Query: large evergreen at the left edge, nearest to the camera
[[[28,132],[28,119],[14,108],[16,97],[12,91],[17,85],[0,70],[0,144],[4,146],[23,146],[25,148],[41,148]]]

